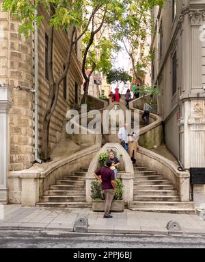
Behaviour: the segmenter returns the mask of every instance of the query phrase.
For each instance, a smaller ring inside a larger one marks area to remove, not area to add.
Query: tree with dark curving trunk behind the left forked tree
[[[94,49],[90,51],[90,49],[94,47],[95,36],[100,34],[103,26],[107,28],[111,27],[113,23],[115,23],[115,21],[119,21],[119,19],[126,12],[126,1],[98,0],[98,5],[100,5],[100,8],[98,12],[96,12],[95,16],[92,17],[90,32],[87,34],[83,51],[82,73],[85,84],[81,104],[85,103],[92,73],[99,69],[101,69],[102,72],[105,71],[105,73],[107,73],[107,70],[111,69],[111,63],[109,62],[108,56],[111,54],[111,47],[114,47],[113,43],[112,41],[109,42],[109,40],[102,38],[96,47],[102,54],[100,58],[98,58]],[[116,44],[115,47],[118,47],[118,44]],[[103,56],[103,54],[105,56]],[[106,65],[108,66],[107,69]],[[86,74],[87,67],[91,69],[88,75]]]

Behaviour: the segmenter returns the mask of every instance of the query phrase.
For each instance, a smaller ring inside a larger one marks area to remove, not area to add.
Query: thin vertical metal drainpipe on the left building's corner
[[[35,16],[38,11],[35,8]],[[34,22],[34,147],[35,147],[35,161],[42,163],[42,160],[38,158],[38,26],[36,21]]]

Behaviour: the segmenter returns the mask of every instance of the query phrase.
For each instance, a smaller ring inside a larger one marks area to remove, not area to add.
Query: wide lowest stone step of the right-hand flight
[[[129,209],[194,209],[193,202],[153,202],[153,201],[133,201],[128,204]]]

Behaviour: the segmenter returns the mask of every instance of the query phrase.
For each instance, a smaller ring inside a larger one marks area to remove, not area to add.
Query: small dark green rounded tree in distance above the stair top
[[[113,69],[107,74],[107,83],[116,84],[117,88],[120,86],[120,84],[126,84],[131,82],[131,80],[131,75],[128,75],[128,73],[122,69]]]

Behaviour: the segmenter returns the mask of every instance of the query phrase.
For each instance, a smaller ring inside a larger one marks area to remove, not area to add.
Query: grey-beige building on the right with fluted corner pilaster
[[[205,167],[205,0],[165,1],[155,8],[152,84],[159,86],[164,139],[185,169]],[[205,202],[205,185],[193,185]]]

